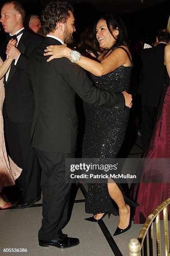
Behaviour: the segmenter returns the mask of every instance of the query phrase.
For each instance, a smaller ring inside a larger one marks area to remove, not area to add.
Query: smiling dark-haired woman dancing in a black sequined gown
[[[105,15],[98,21],[95,33],[97,43],[102,49],[98,57],[99,62],[82,56],[77,64],[91,73],[92,79],[100,89],[110,92],[128,91],[133,64],[123,21],[118,15]],[[52,51],[49,55],[53,54],[53,57],[70,56],[71,50],[65,46],[47,48],[47,51]],[[115,158],[125,136],[128,118],[128,107],[120,111],[90,106],[82,157]],[[95,215],[87,220],[100,220],[105,213],[119,214],[118,227],[123,233],[130,228],[129,205],[137,206],[124,195],[120,184],[110,181],[108,184],[88,184],[85,211]]]

